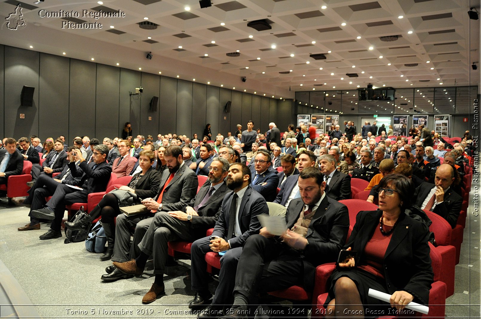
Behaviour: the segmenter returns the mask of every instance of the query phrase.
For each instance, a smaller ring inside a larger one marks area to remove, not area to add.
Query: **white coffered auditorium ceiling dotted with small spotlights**
[[[7,0],[1,15],[20,3],[27,25],[3,23],[0,43],[276,98],[369,83],[479,85],[480,20],[467,13],[480,11],[479,0],[211,2],[201,9],[198,0]],[[83,17],[84,10],[125,17]],[[45,16],[72,11],[79,16]],[[256,20],[265,30],[248,26]],[[67,28],[96,22],[101,29]]]

